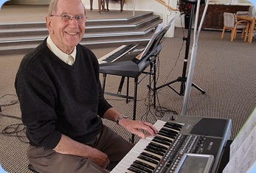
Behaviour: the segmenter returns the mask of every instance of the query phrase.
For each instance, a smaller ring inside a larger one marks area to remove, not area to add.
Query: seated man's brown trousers
[[[133,144],[125,141],[105,125],[103,125],[100,135],[97,135],[88,145],[108,155],[110,160],[107,166],[108,170],[113,169],[133,147]],[[35,170],[41,173],[105,172],[103,168],[87,158],[76,155],[63,155],[45,147],[29,146],[27,157]]]

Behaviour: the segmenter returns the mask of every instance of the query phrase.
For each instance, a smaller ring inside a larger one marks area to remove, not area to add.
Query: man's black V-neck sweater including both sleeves
[[[86,143],[100,133],[100,117],[111,107],[104,99],[97,58],[80,44],[69,66],[44,40],[21,61],[15,89],[32,146],[53,149],[61,133]]]

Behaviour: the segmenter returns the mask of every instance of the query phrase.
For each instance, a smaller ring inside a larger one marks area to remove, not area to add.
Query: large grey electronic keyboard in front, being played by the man
[[[156,121],[159,133],[140,139],[111,172],[172,173],[182,168],[191,173],[216,172],[231,135],[231,120],[177,117],[175,121],[170,121],[170,116]],[[192,159],[186,162],[185,156]]]

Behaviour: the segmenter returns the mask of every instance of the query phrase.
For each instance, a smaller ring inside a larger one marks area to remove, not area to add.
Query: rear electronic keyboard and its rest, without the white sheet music
[[[123,51],[125,49],[125,51]],[[162,49],[161,44],[143,57],[139,54],[143,52],[145,45],[121,46],[98,61],[100,63],[100,73],[113,74],[125,77],[139,77],[150,66],[150,57],[156,56]],[[120,51],[120,52],[119,52]]]

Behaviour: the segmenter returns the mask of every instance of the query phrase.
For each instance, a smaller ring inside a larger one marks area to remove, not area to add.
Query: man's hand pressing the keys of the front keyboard
[[[156,127],[153,127],[151,123],[143,122],[143,121],[134,121],[130,119],[120,119],[119,124],[122,127],[125,127],[130,133],[135,135],[139,135],[141,138],[145,138],[145,134],[139,130],[146,130],[151,135],[156,135],[157,130]]]

